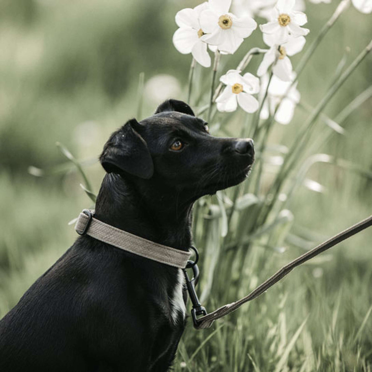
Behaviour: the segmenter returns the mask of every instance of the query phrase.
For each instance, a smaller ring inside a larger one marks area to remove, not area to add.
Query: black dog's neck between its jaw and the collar
[[[142,191],[142,192],[141,192]],[[175,193],[150,195],[123,175],[108,173],[96,201],[100,221],[155,243],[188,250],[191,245],[192,205],[178,205]]]

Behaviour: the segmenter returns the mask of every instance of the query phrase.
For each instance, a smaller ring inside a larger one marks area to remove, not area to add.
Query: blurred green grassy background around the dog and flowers
[[[305,48],[337,3],[306,1],[305,27],[311,32]],[[180,54],[172,44],[177,29],[174,16],[197,4],[193,0],[0,2],[0,317],[73,243],[76,233],[68,222],[83,208],[92,207],[79,186],[81,175],[55,142],[63,143],[81,161],[92,191],[97,193],[104,175],[97,157],[109,134],[132,117],[140,120],[151,115],[164,99],[186,99],[191,55]],[[348,65],[371,40],[371,21],[371,14],[363,15],[353,6],[340,17],[299,80],[302,102],[312,107],[317,104],[332,83],[339,62],[344,58]],[[219,73],[235,68],[252,47],[264,47],[259,30],[234,56],[222,56]],[[300,57],[292,58],[294,66]],[[260,61],[261,57],[254,57],[247,71],[256,74]],[[330,118],[371,86],[371,62],[369,55],[327,105],[325,113]],[[138,108],[141,73],[143,104]],[[196,90],[203,82],[210,86],[211,69],[198,66],[195,78]],[[196,94],[191,104],[197,111],[195,102]],[[202,103],[198,102],[199,107]],[[318,150],[353,166],[320,163],[311,168],[308,177],[315,183],[296,190],[290,204],[293,218],[280,244],[283,249],[263,253],[262,247],[252,248],[254,265],[246,272],[249,280],[240,295],[304,249],[372,213],[371,105],[371,98],[360,105],[343,122],[345,134],[335,132]],[[275,124],[269,142],[291,144],[307,115],[297,108],[291,124]],[[226,135],[227,131],[238,136],[243,118],[238,113],[225,132],[217,128],[214,134]],[[311,141],[318,141],[323,133],[325,124],[317,125]],[[271,155],[265,168],[267,182],[278,167]],[[208,197],[206,203],[218,206],[215,197]],[[199,219],[198,223],[196,239],[203,242],[206,222]],[[217,324],[222,328],[215,325],[210,331],[195,332],[189,327],[175,369],[269,371],[280,365],[283,370],[371,371],[371,241],[372,230],[362,232],[295,270],[277,288],[231,318],[235,325],[240,324],[237,328],[230,327],[228,320]],[[199,249],[203,251],[202,246]],[[208,296],[211,310],[223,304],[224,288],[218,291],[221,295],[213,296],[212,291]],[[306,332],[294,348],[292,336],[307,316]],[[248,323],[241,320],[244,317],[250,318]],[[324,321],[319,320],[322,317]],[[194,355],[211,332],[216,333]],[[280,362],[282,357],[284,362]]]

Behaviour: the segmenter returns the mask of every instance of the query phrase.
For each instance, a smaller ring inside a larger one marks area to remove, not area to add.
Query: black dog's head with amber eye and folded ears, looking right
[[[139,123],[128,121],[100,155],[108,173],[130,179],[147,193],[173,192],[185,201],[237,185],[253,161],[252,140],[210,135],[207,123],[177,100],[162,103]]]

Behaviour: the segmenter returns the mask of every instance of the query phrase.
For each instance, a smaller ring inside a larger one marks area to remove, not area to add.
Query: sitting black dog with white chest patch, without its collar
[[[188,250],[193,202],[242,182],[253,154],[251,140],[212,137],[166,101],[105,144],[95,218]],[[0,371],[167,371],[185,327],[182,275],[79,237],[0,321]]]

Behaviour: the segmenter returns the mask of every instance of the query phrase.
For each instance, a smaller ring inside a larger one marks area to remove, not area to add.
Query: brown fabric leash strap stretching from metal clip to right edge
[[[230,314],[230,312],[237,310],[237,308],[239,308],[244,303],[251,301],[254,298],[258,297],[260,294],[265,292],[272,285],[274,285],[276,282],[278,282],[280,279],[286,276],[289,272],[291,272],[296,266],[301,265],[307,260],[310,260],[312,257],[317,256],[319,253],[324,252],[325,250],[336,245],[337,243],[340,243],[341,241],[351,237],[352,235],[356,234],[359,231],[364,230],[365,228],[371,225],[372,225],[372,215],[364,219],[363,221],[360,221],[359,223],[353,225],[352,227],[349,227],[348,229],[340,232],[339,234],[328,239],[324,243],[319,244],[317,247],[306,252],[305,254],[302,254],[302,256],[299,256],[292,262],[286,264],[278,272],[276,272],[273,276],[271,276],[269,279],[267,279],[265,282],[259,285],[256,289],[254,289],[247,296],[241,298],[240,300],[236,302],[232,302],[231,304],[224,305],[218,308],[217,310],[207,315],[202,316],[201,318],[197,320],[196,324],[194,324],[195,328],[201,329],[201,328],[211,327],[212,323],[216,319],[222,318],[225,315]]]

